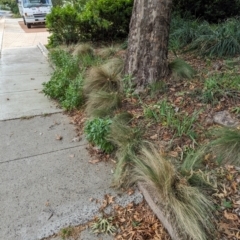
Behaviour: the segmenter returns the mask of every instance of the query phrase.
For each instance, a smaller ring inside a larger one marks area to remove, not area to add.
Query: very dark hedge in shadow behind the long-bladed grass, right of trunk
[[[240,15],[240,0],[173,0],[173,10],[181,16],[194,16],[218,22]]]

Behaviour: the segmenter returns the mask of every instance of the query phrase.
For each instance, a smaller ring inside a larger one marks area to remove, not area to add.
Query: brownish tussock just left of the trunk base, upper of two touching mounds
[[[112,59],[100,67],[91,68],[83,85],[85,94],[98,91],[120,91],[122,69],[123,62],[120,59]]]

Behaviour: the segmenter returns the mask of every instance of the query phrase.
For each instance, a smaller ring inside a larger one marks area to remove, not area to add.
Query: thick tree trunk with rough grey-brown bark
[[[167,55],[172,0],[135,0],[128,37],[125,74],[137,87],[169,73]]]

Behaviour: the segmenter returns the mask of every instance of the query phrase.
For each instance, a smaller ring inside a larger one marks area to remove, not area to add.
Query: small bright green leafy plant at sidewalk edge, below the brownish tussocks
[[[84,128],[87,140],[107,153],[114,150],[114,145],[107,140],[111,124],[111,119],[94,118],[87,121]]]

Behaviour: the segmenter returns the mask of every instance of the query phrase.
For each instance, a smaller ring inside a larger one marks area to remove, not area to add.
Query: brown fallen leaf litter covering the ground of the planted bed
[[[206,132],[216,126],[212,121],[214,113],[227,110],[234,117],[239,117],[231,111],[233,107],[240,107],[239,101],[228,97],[223,97],[216,104],[206,104],[199,99],[198,90],[203,89],[204,78],[206,78],[207,74],[221,73],[225,70],[223,60],[215,60],[213,64],[207,65],[203,59],[196,58],[193,55],[180,57],[185,59],[198,71],[199,74],[197,74],[197,77],[191,79],[191,81],[168,78],[165,80],[166,90],[153,97],[149,96],[149,92],[143,93],[141,100],[148,106],[162,99],[167,99],[168,102],[181,112],[189,115],[199,112],[197,122],[194,124],[194,131],[197,133],[196,141],[185,135],[176,138],[173,131],[164,123],[146,120],[144,109],[136,97],[129,96],[124,99],[123,107],[118,110],[118,112],[127,111],[132,113],[134,116],[132,125],[134,127],[145,126],[144,139],[159,146],[163,154],[177,159],[178,163],[181,163],[187,149],[194,150],[197,148],[197,145],[208,141]],[[170,56],[170,58],[173,59],[174,57]],[[216,68],[215,66],[223,67]],[[86,116],[82,112],[73,113],[72,116],[73,123],[76,124],[79,134],[82,134]],[[92,146],[89,147],[89,150],[99,161],[113,159],[113,156],[105,155],[99,149]],[[212,199],[216,207],[218,240],[238,240],[240,239],[240,169],[236,166],[220,167],[209,165],[206,167],[210,167],[211,174],[217,179],[217,186]],[[170,239],[159,220],[154,218],[153,213],[148,209],[145,202],[142,205],[130,205],[126,208],[117,206],[115,214],[115,224],[119,226],[121,231],[115,237],[116,240]],[[144,216],[147,216],[147,221],[144,220]],[[132,224],[133,222],[141,222],[141,224],[134,225]],[[146,235],[141,235],[143,233]]]

